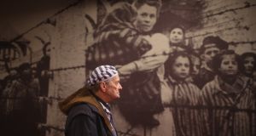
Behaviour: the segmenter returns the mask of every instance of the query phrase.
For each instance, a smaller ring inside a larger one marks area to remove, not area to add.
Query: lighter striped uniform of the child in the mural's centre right
[[[191,82],[177,82],[171,76],[167,84],[172,91],[171,110],[177,136],[201,136],[201,118],[196,106],[201,90]]]

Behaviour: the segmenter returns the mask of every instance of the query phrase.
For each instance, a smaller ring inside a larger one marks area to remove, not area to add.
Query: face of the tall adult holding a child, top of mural
[[[144,4],[142,7],[137,8],[137,29],[141,32],[151,31],[156,22],[157,8]]]

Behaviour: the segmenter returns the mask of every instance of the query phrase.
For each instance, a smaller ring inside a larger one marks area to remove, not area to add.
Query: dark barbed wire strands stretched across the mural
[[[20,37],[24,37],[30,31],[38,28],[39,26],[44,25],[51,18],[54,18],[56,15],[61,14],[61,13],[65,12],[65,11],[67,11],[68,8],[72,8],[72,7],[76,6],[76,5],[78,5],[82,1],[83,0],[78,0],[77,2],[75,2],[73,4],[70,4],[69,6],[67,6],[66,8],[61,9],[60,11],[56,12],[55,14],[52,14],[47,19],[42,20],[36,26],[32,26],[29,30],[22,32],[18,37],[13,38],[9,42],[15,42],[16,40],[20,39]],[[228,12],[237,12],[237,11],[239,11],[241,9],[254,8],[255,6],[256,6],[256,4],[252,4],[252,3],[247,2],[247,3],[244,3],[244,5],[241,6],[241,7],[238,7],[238,8],[226,8],[224,11],[220,11],[220,12],[212,13],[211,14],[212,11],[218,11],[218,8],[217,8],[215,10],[213,9],[211,12],[207,12],[204,15],[204,18],[209,18],[209,17],[215,16],[215,15],[225,14],[225,13],[228,13]],[[233,20],[230,20],[230,21],[233,21]],[[227,21],[225,23],[229,23],[229,21]],[[203,34],[194,35],[194,36],[191,36],[191,37],[188,37],[188,38],[204,37],[204,36],[207,36],[207,35],[210,35],[210,34],[213,34],[213,33],[218,33],[218,32],[222,32],[222,31],[231,31],[231,30],[234,30],[234,29],[245,29],[245,30],[248,30],[251,26],[255,26],[255,24],[256,24],[256,22],[253,22],[253,23],[251,23],[250,25],[247,25],[247,26],[230,26],[230,27],[218,30],[218,31],[205,32]],[[214,26],[211,26],[211,27],[214,27]],[[81,33],[79,35],[92,34],[92,31],[87,31],[87,32],[88,33],[84,32],[84,33]],[[73,38],[73,37],[76,37],[76,36],[71,36],[71,37],[68,37],[68,38]],[[251,44],[251,45],[253,45],[255,43],[256,43],[256,41],[229,42],[230,45],[234,45],[234,46],[239,45],[239,44]],[[152,54],[152,55],[148,55],[148,56],[143,56],[142,58],[155,57],[155,56],[159,56],[159,55],[170,55],[170,53]],[[52,71],[54,73],[54,72],[60,72],[60,71],[76,71],[76,70],[79,70],[79,69],[85,69],[85,65],[81,64],[81,65],[74,65],[74,66],[68,66],[68,67],[59,67],[59,68],[51,69],[49,71]],[[59,100],[62,99],[62,98],[57,98],[57,97],[52,97],[52,96],[42,97],[42,98],[44,100],[46,100],[47,102],[49,102],[49,103],[52,103],[52,100],[59,101]],[[8,98],[8,97],[3,98],[2,97],[1,99],[18,99],[18,98]],[[173,108],[174,107],[179,107],[179,108],[188,108],[188,109],[196,109],[196,110],[209,109],[209,107],[207,107],[207,106],[191,106],[191,105],[169,105],[169,106],[173,107]],[[219,109],[219,110],[237,111],[237,112],[247,112],[247,113],[251,113],[251,114],[255,114],[256,113],[255,110],[251,110],[251,109],[234,109],[233,107],[210,107],[210,108],[211,109]],[[51,126],[51,125],[48,125],[48,124],[41,124],[41,125],[42,125],[42,127],[44,127],[47,130],[54,129],[56,131],[64,132],[64,128],[63,127],[55,127],[55,126]],[[119,132],[119,134],[123,135],[123,136],[137,136],[137,134],[131,133],[130,131]]]

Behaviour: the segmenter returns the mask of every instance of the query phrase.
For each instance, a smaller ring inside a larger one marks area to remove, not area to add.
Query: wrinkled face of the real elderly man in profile
[[[107,83],[107,91],[106,94],[108,95],[110,101],[113,99],[119,99],[120,94],[119,91],[122,89],[122,86],[120,84],[119,76],[113,77],[108,83]]]

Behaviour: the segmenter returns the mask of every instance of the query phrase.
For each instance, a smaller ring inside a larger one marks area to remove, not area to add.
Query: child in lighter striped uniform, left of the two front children
[[[166,68],[166,82],[170,89],[161,94],[161,98],[164,106],[171,107],[177,136],[200,136],[201,118],[195,106],[201,90],[187,80],[192,68],[189,55],[174,53],[166,61]]]

